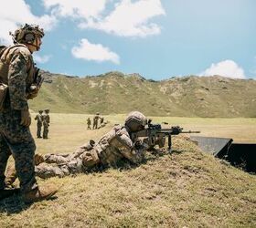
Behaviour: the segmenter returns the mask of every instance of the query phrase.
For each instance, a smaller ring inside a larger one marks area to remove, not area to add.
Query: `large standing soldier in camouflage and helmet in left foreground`
[[[43,29],[21,26],[12,35],[15,45],[7,47],[0,57],[0,82],[8,86],[4,109],[0,112],[0,194],[5,194],[5,167],[9,156],[15,160],[20,192],[24,202],[50,198],[57,190],[38,188],[35,178],[35,141],[29,130],[31,116],[27,99],[36,98],[36,67],[32,53],[38,51]]]

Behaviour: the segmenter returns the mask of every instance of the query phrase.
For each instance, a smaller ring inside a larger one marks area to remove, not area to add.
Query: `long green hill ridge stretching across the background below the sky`
[[[30,108],[101,114],[138,109],[151,116],[256,117],[256,81],[214,77],[147,80],[138,74],[109,72],[69,77],[43,71],[46,78]]]

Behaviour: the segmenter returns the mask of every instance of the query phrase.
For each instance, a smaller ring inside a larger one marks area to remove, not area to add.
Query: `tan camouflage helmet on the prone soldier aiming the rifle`
[[[147,119],[144,114],[139,111],[132,111],[125,119],[125,126],[132,132],[143,130],[147,124]]]

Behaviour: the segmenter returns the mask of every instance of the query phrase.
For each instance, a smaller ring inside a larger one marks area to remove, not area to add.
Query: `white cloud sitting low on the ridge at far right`
[[[229,78],[245,78],[244,71],[238,64],[232,60],[224,60],[217,64],[211,64],[200,76],[219,75]]]

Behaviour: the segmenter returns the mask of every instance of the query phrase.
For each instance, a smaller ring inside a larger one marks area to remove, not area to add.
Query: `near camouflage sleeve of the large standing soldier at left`
[[[18,50],[12,57],[8,72],[8,87],[12,109],[28,109],[26,95],[28,57]]]

